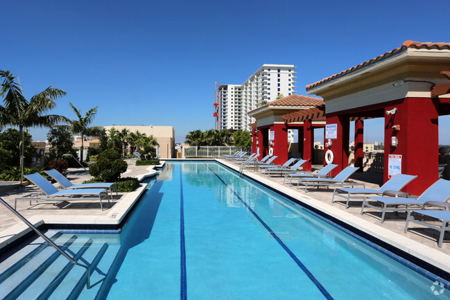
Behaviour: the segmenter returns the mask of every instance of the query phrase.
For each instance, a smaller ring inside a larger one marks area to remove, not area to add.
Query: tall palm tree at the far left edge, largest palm
[[[55,99],[66,94],[61,89],[47,87],[39,94],[35,94],[28,101],[19,84],[15,82],[17,76],[10,71],[0,70],[1,83],[0,96],[3,96],[4,106],[0,105],[0,125],[19,127],[20,132],[20,184],[24,175],[24,128],[26,127],[51,127],[58,123],[66,123],[70,120],[57,114],[46,114],[56,107]]]

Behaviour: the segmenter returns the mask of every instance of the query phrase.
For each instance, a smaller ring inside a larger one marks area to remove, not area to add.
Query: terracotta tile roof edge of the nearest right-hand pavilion
[[[352,67],[350,69],[347,69],[345,71],[342,71],[340,73],[334,74],[333,76],[324,78],[318,82],[314,82],[311,85],[306,85],[306,91],[308,89],[312,89],[313,87],[317,87],[318,85],[322,85],[322,83],[333,80],[335,78],[338,78],[340,76],[344,76],[347,73],[350,73],[352,71],[355,71],[357,69],[361,69],[362,67],[367,66],[367,64],[372,64],[373,62],[377,62],[378,60],[382,60],[383,58],[387,58],[390,55],[394,55],[395,53],[399,53],[400,51],[404,51],[407,48],[415,48],[415,49],[448,49],[450,50],[450,43],[421,43],[421,42],[414,42],[414,41],[406,41],[403,44],[401,44],[401,47],[395,48],[392,51],[386,52],[383,55],[379,55],[376,58],[372,58],[372,60],[367,60],[367,62],[363,62],[362,64],[358,64],[356,67]]]

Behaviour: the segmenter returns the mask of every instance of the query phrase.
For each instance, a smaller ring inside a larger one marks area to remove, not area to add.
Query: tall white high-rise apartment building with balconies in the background
[[[295,94],[293,64],[263,64],[242,85],[219,85],[216,103],[216,129],[250,130],[254,118],[247,112],[258,103],[276,100],[279,94]]]

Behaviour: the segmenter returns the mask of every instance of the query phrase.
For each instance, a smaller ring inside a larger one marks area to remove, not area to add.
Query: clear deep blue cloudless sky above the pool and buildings
[[[294,64],[296,94],[412,39],[450,42],[450,1],[3,1],[0,69],[27,98],[67,91],[55,114],[98,106],[93,125],[214,128],[214,80]],[[450,121],[441,118],[441,125]],[[367,139],[383,125],[367,122]],[[443,132],[444,130],[440,130]],[[34,140],[47,130],[32,129]],[[441,136],[450,143],[450,136]]]

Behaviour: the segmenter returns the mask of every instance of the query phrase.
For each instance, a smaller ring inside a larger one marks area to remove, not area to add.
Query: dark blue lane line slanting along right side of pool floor
[[[207,166],[207,168],[209,168],[209,166]],[[209,170],[211,170],[211,168],[209,168]],[[244,204],[245,207],[254,215],[254,218],[257,218],[257,220],[259,222],[261,222],[263,227],[266,227],[267,231],[269,231],[269,233],[272,235],[273,238],[275,238],[275,240],[279,243],[279,245],[281,245],[283,247],[283,249],[289,254],[289,256],[291,256],[291,258],[295,261],[295,263],[297,263],[297,265],[300,267],[300,269],[302,269],[304,274],[306,274],[306,276],[308,276],[308,278],[315,284],[315,286],[320,290],[320,292],[324,295],[324,297],[329,300],[334,299],[333,297],[331,297],[329,292],[327,292],[327,290],[325,290],[323,285],[314,277],[314,275],[311,272],[309,272],[308,268],[300,261],[300,259],[298,259],[297,256],[295,256],[295,254],[293,254],[291,249],[289,249],[288,246],[286,246],[286,244],[277,236],[277,234],[275,232],[273,232],[272,229],[270,229],[268,224],[266,224],[266,222],[264,222],[261,218],[259,218],[259,215],[257,215],[257,213],[255,213],[253,211],[253,209],[251,209],[250,206],[248,206],[248,204],[245,203],[245,201],[241,198],[241,196],[239,196],[238,193],[236,193],[230,186],[228,186],[228,184],[226,184],[223,181],[223,179],[220,178],[220,176],[214,172],[214,170],[211,170],[211,172],[214,175],[216,175],[216,177],[220,180],[220,182],[225,184],[225,186],[228,189],[230,189],[230,191],[232,191],[232,193],[234,193],[234,195],[236,195],[236,197],[239,199],[239,201],[241,201],[242,204]]]

